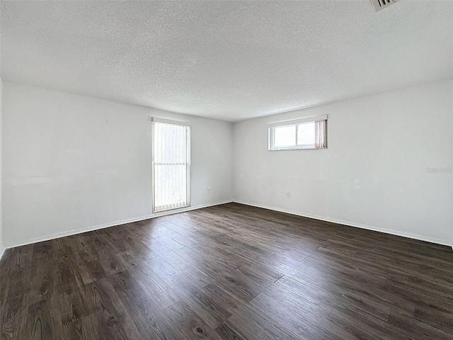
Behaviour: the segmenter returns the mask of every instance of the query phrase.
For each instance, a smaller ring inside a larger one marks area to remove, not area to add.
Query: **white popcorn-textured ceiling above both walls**
[[[453,78],[453,1],[2,1],[1,77],[236,121]]]

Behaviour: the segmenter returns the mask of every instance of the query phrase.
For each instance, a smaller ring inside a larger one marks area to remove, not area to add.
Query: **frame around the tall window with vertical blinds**
[[[152,181],[152,195],[153,195],[153,198],[152,198],[152,212],[153,213],[156,213],[156,212],[164,212],[164,211],[168,211],[168,210],[174,210],[174,209],[180,209],[180,208],[187,208],[187,207],[190,207],[191,205],[191,192],[190,192],[190,149],[191,149],[191,145],[190,145],[190,123],[189,122],[183,122],[183,121],[179,121],[179,120],[170,120],[170,119],[166,119],[166,118],[159,118],[159,117],[150,117],[150,120],[151,120],[151,181]],[[174,208],[162,208],[162,207],[156,207],[156,199],[155,199],[155,190],[156,190],[156,187],[155,187],[155,163],[154,163],[154,155],[156,154],[156,150],[154,149],[155,145],[154,145],[154,123],[164,123],[164,124],[172,124],[172,125],[181,125],[181,126],[185,126],[185,127],[188,127],[188,134],[186,135],[186,138],[187,138],[187,154],[186,154],[186,157],[187,157],[187,162],[186,162],[186,173],[187,173],[187,181],[186,181],[186,185],[187,185],[187,188],[186,188],[186,193],[187,193],[187,202],[185,205],[180,205],[180,206],[176,206]]]

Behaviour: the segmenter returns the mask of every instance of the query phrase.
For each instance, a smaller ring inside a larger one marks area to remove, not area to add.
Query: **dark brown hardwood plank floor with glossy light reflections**
[[[451,248],[236,203],[0,270],[2,339],[453,339]]]

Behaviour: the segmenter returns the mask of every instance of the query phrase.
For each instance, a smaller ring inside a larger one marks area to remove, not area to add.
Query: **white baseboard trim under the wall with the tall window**
[[[143,220],[149,220],[150,218],[155,218],[155,217],[161,217],[161,216],[167,216],[167,215],[173,215],[173,214],[178,214],[179,212],[186,212],[190,210],[197,210],[197,209],[202,209],[202,208],[208,208],[208,207],[213,207],[214,205],[222,205],[226,203],[231,203],[233,202],[232,200],[224,200],[222,202],[217,202],[217,203],[209,203],[205,205],[196,205],[193,207],[187,207],[187,208],[180,208],[180,209],[175,209],[175,210],[169,210],[169,211],[164,211],[164,212],[156,212],[155,214],[152,215],[146,215],[142,217],[134,217],[130,218],[128,220],[121,220],[117,222],[110,222],[110,223],[105,223],[103,225],[94,225],[92,227],[84,227],[80,229],[73,229],[69,230],[67,232],[59,232],[57,234],[50,234],[46,235],[43,237],[35,237],[34,239],[28,239],[25,242],[21,242],[18,244],[14,245],[8,245],[5,246],[3,251],[1,252],[1,255],[3,255],[4,251],[9,248],[14,248],[16,246],[25,246],[26,244],[33,244],[33,243],[38,243],[38,242],[43,242],[43,241],[49,241],[50,239],[59,239],[60,237],[66,237],[66,236],[71,236],[71,235],[76,235],[76,234],[82,234],[84,232],[92,232],[93,230],[98,230],[98,229],[104,229],[108,227],[115,227],[115,225],[125,225],[127,223],[132,223],[132,222],[139,222]],[[1,256],[0,256],[1,259]]]

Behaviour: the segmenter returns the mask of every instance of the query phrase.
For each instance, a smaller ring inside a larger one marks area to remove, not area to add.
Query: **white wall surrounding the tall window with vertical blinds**
[[[151,216],[153,115],[191,122],[192,206],[231,201],[231,123],[4,83],[4,244]]]

